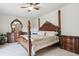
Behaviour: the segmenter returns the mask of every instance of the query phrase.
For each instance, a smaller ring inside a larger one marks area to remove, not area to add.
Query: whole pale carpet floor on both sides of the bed
[[[26,50],[17,43],[0,45],[0,56],[27,56]],[[56,46],[45,48],[36,53],[37,56],[78,56]]]

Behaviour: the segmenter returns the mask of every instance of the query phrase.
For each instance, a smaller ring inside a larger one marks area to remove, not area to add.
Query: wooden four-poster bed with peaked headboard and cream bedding
[[[48,21],[46,21],[40,28],[40,31],[47,32],[58,32],[59,34],[59,26],[56,26]],[[34,55],[40,49],[51,46],[55,43],[59,42],[59,38],[57,34],[48,35],[31,35],[31,23],[28,21],[28,35],[18,36],[17,42],[20,43],[29,53],[29,56]]]

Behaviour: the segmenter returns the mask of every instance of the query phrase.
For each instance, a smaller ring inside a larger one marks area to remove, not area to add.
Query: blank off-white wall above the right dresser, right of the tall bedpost
[[[70,4],[61,9],[63,35],[79,36],[79,4]]]

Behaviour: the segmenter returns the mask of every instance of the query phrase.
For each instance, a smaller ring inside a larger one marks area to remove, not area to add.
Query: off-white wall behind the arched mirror
[[[0,16],[0,32],[11,32],[11,27],[10,23],[14,19],[19,19],[22,24],[23,24],[23,29],[22,31],[26,32],[27,31],[27,19],[26,18],[21,18],[21,17],[13,17],[13,16]]]

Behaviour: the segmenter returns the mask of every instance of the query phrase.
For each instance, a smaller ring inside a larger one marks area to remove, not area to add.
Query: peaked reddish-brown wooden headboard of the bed
[[[40,31],[58,31],[59,27],[50,23],[49,21],[46,21],[40,28]]]

